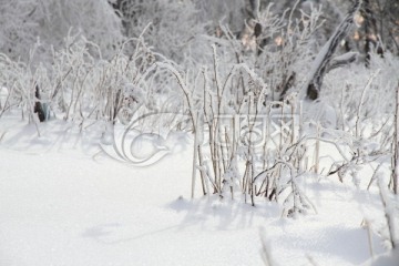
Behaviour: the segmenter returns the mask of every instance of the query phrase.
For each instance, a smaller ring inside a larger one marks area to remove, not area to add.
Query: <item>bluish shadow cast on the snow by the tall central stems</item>
[[[269,216],[279,216],[277,204],[267,203],[268,207],[260,204],[253,207],[238,198],[219,201],[217,197],[214,195],[193,201],[178,197],[163,206],[167,216],[174,218],[156,222],[152,229],[137,232],[134,224],[113,223],[88,227],[80,236],[104,245],[119,245],[147,237],[155,239],[162,237],[161,234],[185,233],[186,229],[192,231],[192,227],[200,232],[245,231],[260,226]],[[133,234],[133,231],[136,233]]]

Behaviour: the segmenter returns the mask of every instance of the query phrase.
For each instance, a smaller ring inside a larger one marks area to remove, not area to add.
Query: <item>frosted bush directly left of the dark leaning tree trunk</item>
[[[309,13],[300,12],[294,19],[294,10],[286,10],[283,17],[273,13],[269,6],[260,13],[263,25],[260,39],[266,42],[260,48],[256,69],[270,86],[270,100],[283,100],[290,91],[298,92],[309,71],[318,47],[317,30],[321,27],[320,9]]]

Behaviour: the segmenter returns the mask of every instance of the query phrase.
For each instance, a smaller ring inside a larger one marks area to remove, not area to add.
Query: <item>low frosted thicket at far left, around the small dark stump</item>
[[[153,68],[157,59],[143,39],[127,42],[110,60],[103,60],[98,58],[101,49],[96,44],[70,33],[64,48],[34,71],[30,64],[1,54],[0,83],[8,90],[1,113],[19,108],[35,121],[33,111],[40,102],[64,120],[127,123],[153,96],[149,80],[158,78]],[[127,44],[134,47],[132,55],[124,53]]]

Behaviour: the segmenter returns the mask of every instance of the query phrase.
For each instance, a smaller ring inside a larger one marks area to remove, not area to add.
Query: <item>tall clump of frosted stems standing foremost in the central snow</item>
[[[288,103],[270,101],[269,86],[248,66],[252,55],[234,50],[239,45],[233,39],[225,43],[233,45],[223,44],[212,47],[209,68],[182,72],[171,63],[158,64],[175,76],[192,120],[193,195],[198,171],[204,194],[243,195],[252,205],[262,196],[286,202],[288,215],[301,212],[309,204],[296,183],[307,171],[297,129],[298,101],[294,95],[287,96]],[[231,47],[243,63],[226,52]]]

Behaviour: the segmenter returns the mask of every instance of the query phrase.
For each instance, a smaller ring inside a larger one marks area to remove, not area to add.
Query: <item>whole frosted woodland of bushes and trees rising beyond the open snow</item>
[[[0,25],[0,123],[95,129],[101,155],[135,166],[185,143],[192,198],[282,217],[318,213],[307,178],[349,184],[377,195],[362,224],[398,249],[397,0],[14,0]]]

